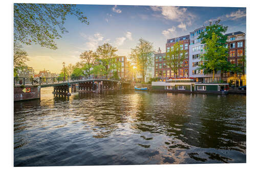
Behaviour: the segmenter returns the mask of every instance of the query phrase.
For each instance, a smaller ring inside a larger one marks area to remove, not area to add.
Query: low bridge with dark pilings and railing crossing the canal
[[[104,89],[121,90],[131,82],[119,81],[103,76],[53,77],[53,78],[14,78],[14,101],[40,98],[40,88],[54,87],[53,94],[71,95],[78,90],[102,92]]]

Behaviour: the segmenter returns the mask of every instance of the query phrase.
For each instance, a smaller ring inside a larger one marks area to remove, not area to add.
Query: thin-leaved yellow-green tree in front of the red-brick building
[[[179,69],[183,66],[183,60],[186,58],[186,51],[181,48],[181,43],[176,42],[173,48],[166,53],[166,64],[174,71],[175,78],[178,76]]]

